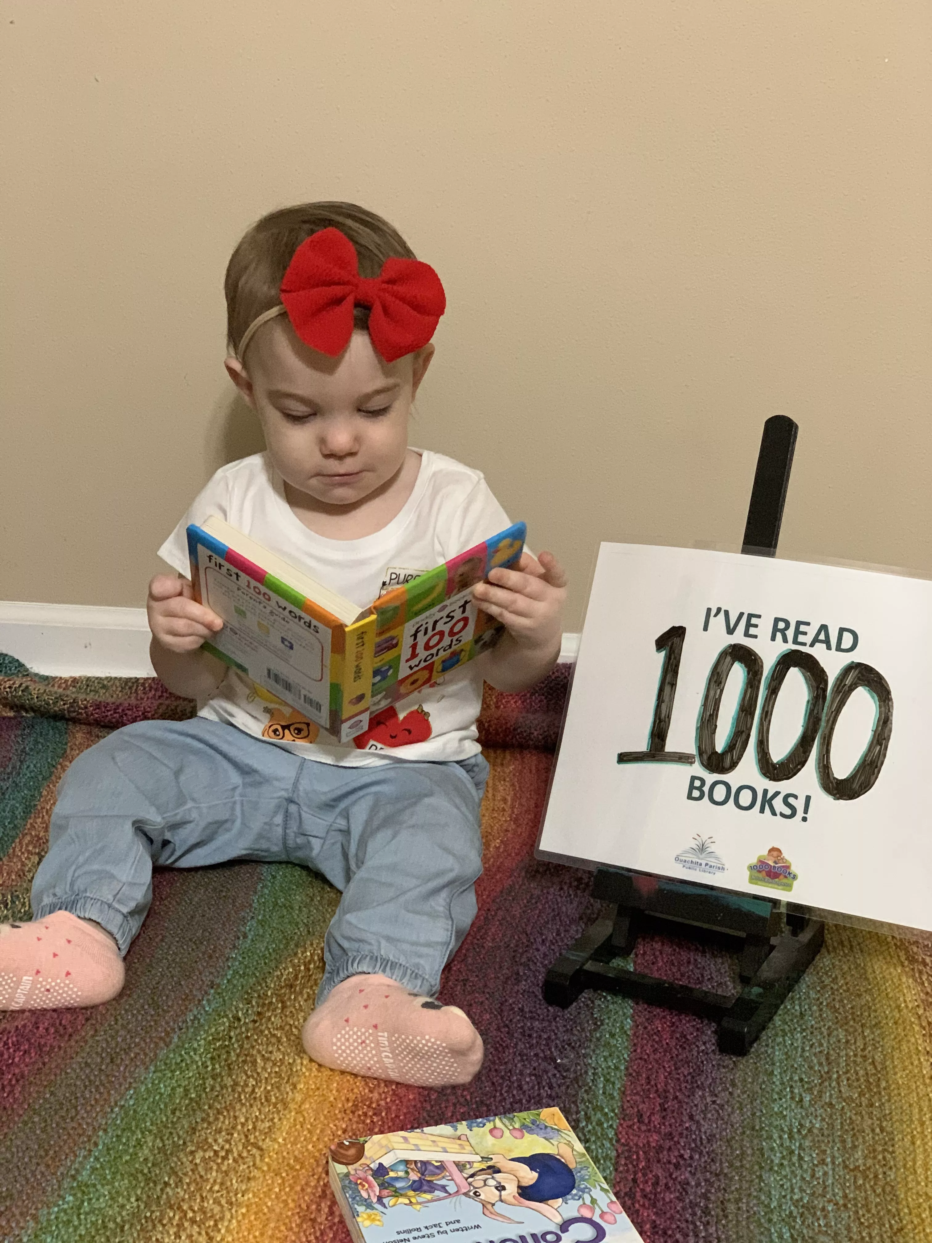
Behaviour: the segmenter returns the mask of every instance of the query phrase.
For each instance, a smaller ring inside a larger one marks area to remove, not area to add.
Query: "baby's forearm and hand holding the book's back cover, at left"
[[[178,574],[157,574],[147,600],[152,666],[170,691],[203,704],[220,685],[226,665],[201,644],[222,626],[212,609],[194,599],[191,584]]]

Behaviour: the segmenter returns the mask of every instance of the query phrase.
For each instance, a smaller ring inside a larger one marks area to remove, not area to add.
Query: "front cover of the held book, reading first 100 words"
[[[372,712],[495,646],[505,628],[473,603],[472,588],[497,567],[518,562],[526,534],[526,525],[516,522],[375,600]]]

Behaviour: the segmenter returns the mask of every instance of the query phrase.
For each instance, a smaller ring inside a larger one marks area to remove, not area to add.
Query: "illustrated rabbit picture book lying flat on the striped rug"
[[[354,1243],[640,1239],[559,1109],[342,1140],[329,1177]]]

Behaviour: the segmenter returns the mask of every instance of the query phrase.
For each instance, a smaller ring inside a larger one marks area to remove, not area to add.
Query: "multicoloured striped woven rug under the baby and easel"
[[[532,856],[564,694],[558,670],[483,710],[480,915],[441,994],[485,1035],[472,1084],[396,1086],[303,1055],[337,902],[323,881],[162,871],[121,997],[0,1017],[0,1237],[344,1243],[334,1140],[559,1105],[647,1243],[932,1241],[928,948],[830,929],[744,1059],[691,1017],[543,1003],[546,968],[594,914],[587,875]],[[189,712],[150,680],[39,679],[0,656],[0,919],[29,915],[70,761],[108,728]],[[635,965],[712,988],[729,973],[662,940]]]

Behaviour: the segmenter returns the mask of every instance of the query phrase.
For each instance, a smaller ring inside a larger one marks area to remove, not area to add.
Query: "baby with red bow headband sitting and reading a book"
[[[225,290],[226,370],[266,450],[194,500],[159,548],[178,576],[153,578],[148,599],[153,666],[198,716],[126,726],[67,769],[34,920],[0,927],[0,1008],[116,997],[153,866],[287,860],[342,890],[307,1053],[400,1083],[467,1083],[481,1037],[434,998],[476,915],[482,680],[518,691],[552,669],[563,571],[527,552],[492,569],[473,594],[505,624],[501,643],[400,701],[399,727],[362,746],[301,728],[268,689],[203,651],[222,620],[194,599],[189,522],[217,515],[360,608],[399,573],[509,525],[478,471],[408,444],[445,298],[391,225],[345,203],[273,211],[234,251]],[[272,713],[290,728],[271,728]]]

